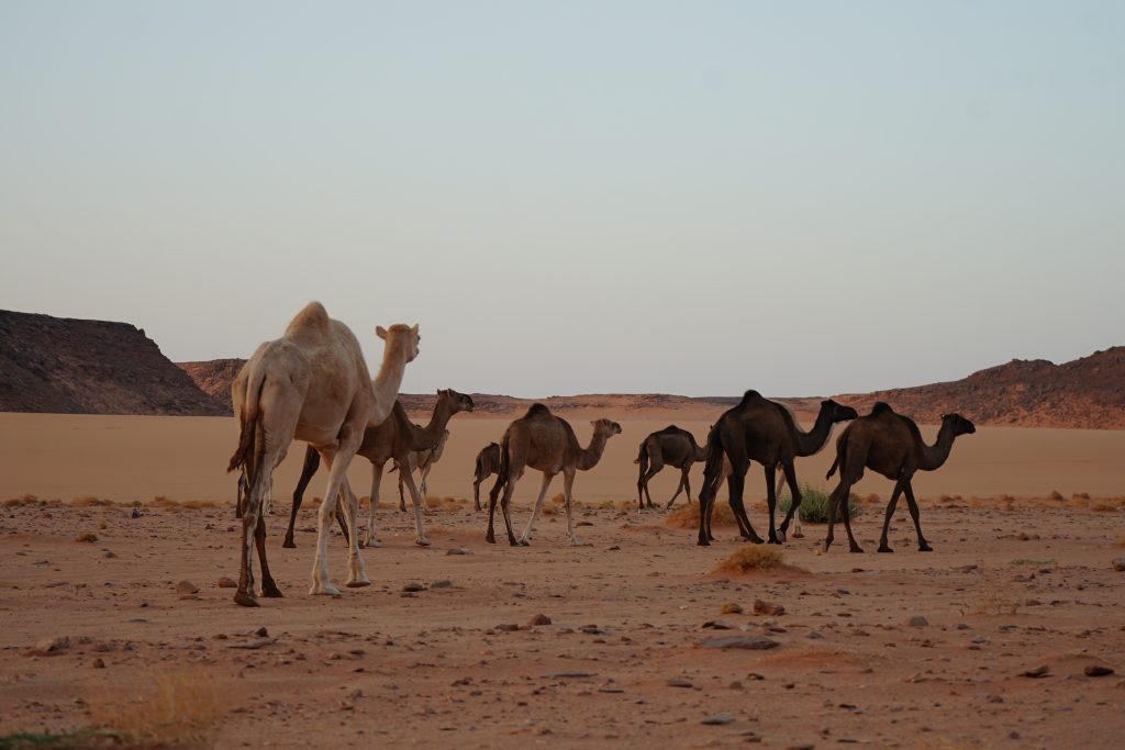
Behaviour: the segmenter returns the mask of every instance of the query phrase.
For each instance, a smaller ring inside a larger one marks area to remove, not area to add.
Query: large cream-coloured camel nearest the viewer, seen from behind
[[[313,562],[310,594],[336,595],[328,580],[328,527],[335,498],[352,457],[363,439],[363,427],[372,414],[386,410],[387,392],[397,392],[406,363],[418,353],[417,326],[394,325],[376,329],[385,340],[382,367],[372,386],[363,353],[346,325],[328,317],[324,306],[309,302],[289,323],[285,334],[263,343],[232,383],[232,399],[238,416],[238,446],[227,471],[241,468],[246,487],[238,555],[238,588],[234,600],[258,606],[251,548],[258,548],[262,567],[262,596],[278,597],[266,560],[266,522],[262,497],[273,469],[294,440],[309,444],[328,464],[328,487],[317,518],[317,548]],[[358,508],[345,508],[354,526]],[[354,535],[353,535],[354,536]],[[346,586],[369,586],[359,546],[349,545]]]

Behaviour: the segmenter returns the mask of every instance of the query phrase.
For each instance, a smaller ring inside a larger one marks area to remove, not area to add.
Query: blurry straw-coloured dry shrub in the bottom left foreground
[[[138,702],[114,703],[111,690],[90,698],[94,725],[125,740],[125,748],[213,748],[234,686],[204,669],[160,671],[151,676]]]

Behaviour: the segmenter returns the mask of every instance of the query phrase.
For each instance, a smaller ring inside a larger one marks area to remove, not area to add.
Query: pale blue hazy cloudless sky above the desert
[[[0,1],[0,308],[404,390],[814,395],[1125,343],[1125,3]]]

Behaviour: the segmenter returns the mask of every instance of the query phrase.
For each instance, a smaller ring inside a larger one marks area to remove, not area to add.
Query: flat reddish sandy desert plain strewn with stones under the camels
[[[531,546],[485,543],[472,459],[507,419],[458,415],[430,481],[433,544],[414,545],[388,475],[382,546],[363,550],[372,586],[308,596],[312,508],[297,549],[280,546],[297,444],[268,517],[285,598],[243,608],[219,586],[238,572],[233,419],[0,415],[0,499],[11,498],[0,507],[0,735],[109,726],[141,738],[136,747],[220,748],[1120,747],[1125,572],[1113,563],[1125,557],[1125,433],[983,427],[917,478],[934,552],[916,550],[902,505],[896,553],[874,552],[890,482],[868,476],[853,524],[866,553],[837,543],[821,554],[824,526],[806,524],[782,566],[734,572],[718,569],[744,549],[732,526],[699,548],[690,516],[634,505],[645,435],[676,422],[702,439],[717,414],[565,416],[583,441],[595,417],[623,427],[575,484],[585,545],[567,543],[554,501]],[[800,460],[799,476],[825,486],[832,455],[829,443]],[[359,495],[366,463],[350,472]],[[693,497],[701,475],[698,464]],[[676,479],[659,475],[654,499]],[[538,472],[520,485],[518,533],[538,485]],[[759,468],[747,490],[764,532]],[[560,491],[558,481],[550,495]],[[342,584],[335,532],[330,562]]]

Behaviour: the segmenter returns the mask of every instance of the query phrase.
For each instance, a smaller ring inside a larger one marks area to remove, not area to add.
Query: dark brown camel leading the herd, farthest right
[[[953,441],[960,435],[971,435],[974,432],[976,427],[973,423],[960,414],[945,414],[942,415],[942,427],[937,432],[937,440],[933,445],[927,445],[922,442],[921,432],[914,419],[896,414],[890,405],[883,401],[876,403],[871,414],[849,424],[836,440],[836,460],[832,461],[826,478],[831,479],[839,469],[840,481],[828,498],[828,535],[825,537],[824,551],[827,552],[832,543],[835,508],[845,507],[839,504],[847,503],[852,486],[863,477],[864,469],[871,469],[894,480],[894,490],[891,493],[891,499],[886,504],[886,515],[883,518],[883,534],[879,537],[879,551],[893,552],[886,543],[886,532],[899,495],[904,494],[915,532],[918,534],[918,551],[932,552],[933,548],[921,534],[918,503],[915,500],[911,479],[918,470],[939,469],[950,458]],[[852,535],[852,521],[848,514],[843,515],[849,551],[863,552]]]

